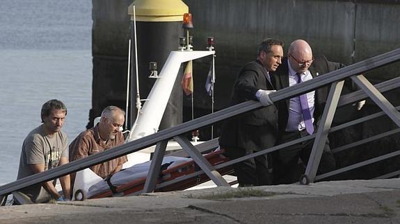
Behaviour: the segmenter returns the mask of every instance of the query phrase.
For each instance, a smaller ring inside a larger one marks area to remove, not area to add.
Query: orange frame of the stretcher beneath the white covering
[[[223,162],[229,161],[229,159],[227,157],[225,157],[223,155],[223,153],[224,153],[224,150],[216,150],[212,153],[208,153],[208,154],[204,155],[204,157],[212,166],[216,166]],[[161,171],[161,177],[158,178],[157,184],[160,184],[160,183],[166,182],[166,181],[170,181],[170,180],[175,180],[176,178],[194,173],[195,171],[198,171],[198,166],[195,164],[195,162],[193,160],[184,162],[173,168],[165,169],[165,170]],[[232,166],[226,166],[221,169],[218,169],[218,172],[221,173],[221,175],[225,175],[225,174],[233,173],[234,171],[233,171]],[[194,187],[203,182],[207,182],[208,180],[210,180],[210,178],[205,173],[203,173],[196,177],[189,178],[187,180],[182,180],[180,182],[176,182],[176,183],[168,185],[166,187],[156,189],[155,191],[162,192],[162,191],[184,190],[184,189],[188,189],[190,187]],[[141,191],[145,186],[145,181],[146,181],[146,178],[138,178],[127,184],[122,184],[122,185],[116,187],[115,192],[111,191],[111,189],[110,189],[109,191],[97,193],[88,199],[112,197],[113,194],[115,194],[115,193],[118,193],[118,196],[127,196],[131,193]]]

